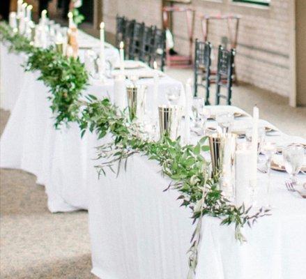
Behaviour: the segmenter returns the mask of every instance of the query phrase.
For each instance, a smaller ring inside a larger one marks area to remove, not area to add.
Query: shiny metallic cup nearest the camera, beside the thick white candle
[[[237,135],[213,134],[209,137],[212,175],[219,176],[220,189],[228,199],[234,199],[235,153]]]

